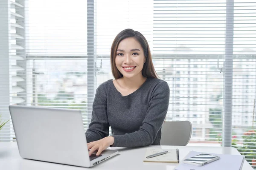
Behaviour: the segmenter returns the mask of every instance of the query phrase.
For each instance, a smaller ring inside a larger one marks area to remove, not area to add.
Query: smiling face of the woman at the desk
[[[140,43],[133,37],[122,40],[116,51],[116,68],[126,78],[142,75],[145,57]]]

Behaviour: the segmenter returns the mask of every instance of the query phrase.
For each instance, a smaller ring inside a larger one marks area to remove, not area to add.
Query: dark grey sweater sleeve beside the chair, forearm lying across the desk
[[[151,94],[148,110],[138,131],[113,135],[112,147],[142,147],[153,144],[163,125],[169,107],[170,89],[167,82],[159,82]]]

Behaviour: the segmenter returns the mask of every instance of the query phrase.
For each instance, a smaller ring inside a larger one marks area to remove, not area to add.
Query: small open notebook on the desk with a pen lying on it
[[[155,156],[153,158],[146,158],[154,153],[168,151],[168,153]],[[179,150],[178,149],[159,149],[159,148],[148,148],[146,150],[145,158],[143,161],[146,162],[179,162]]]

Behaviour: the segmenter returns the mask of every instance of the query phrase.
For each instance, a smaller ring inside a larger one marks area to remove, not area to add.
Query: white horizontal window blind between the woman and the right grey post
[[[153,55],[171,90],[167,120],[192,123],[190,144],[218,145],[222,133],[225,11],[224,0],[154,0]]]

